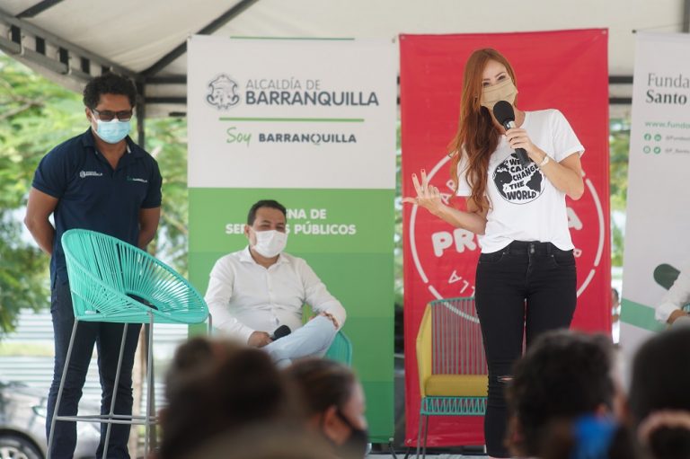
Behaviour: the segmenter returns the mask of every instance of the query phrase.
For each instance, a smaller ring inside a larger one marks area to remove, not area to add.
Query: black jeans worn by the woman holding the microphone
[[[514,362],[540,333],[571,324],[576,303],[572,251],[552,243],[516,241],[482,253],[477,265],[476,307],[489,366],[489,398],[484,417],[487,453],[509,457],[504,446],[508,412],[506,381]]]

